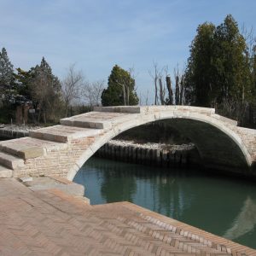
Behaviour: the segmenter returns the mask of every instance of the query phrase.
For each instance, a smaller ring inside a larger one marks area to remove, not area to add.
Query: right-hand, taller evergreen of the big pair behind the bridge
[[[227,15],[213,38],[214,86],[218,88],[218,108],[240,120],[251,94],[250,65],[245,38],[236,20]]]

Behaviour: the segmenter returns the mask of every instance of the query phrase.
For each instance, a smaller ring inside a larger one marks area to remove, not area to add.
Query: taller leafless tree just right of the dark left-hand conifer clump
[[[67,76],[61,82],[62,96],[65,103],[65,116],[71,103],[79,99],[84,84],[84,75],[81,71],[75,71],[75,64],[68,67]]]

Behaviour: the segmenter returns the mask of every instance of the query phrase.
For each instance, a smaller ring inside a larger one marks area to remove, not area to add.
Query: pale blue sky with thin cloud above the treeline
[[[115,64],[134,67],[138,96],[153,102],[153,61],[172,75],[185,67],[197,26],[231,14],[256,29],[255,9],[255,0],[0,0],[0,48],[24,70],[44,56],[59,79],[72,64],[106,84]]]

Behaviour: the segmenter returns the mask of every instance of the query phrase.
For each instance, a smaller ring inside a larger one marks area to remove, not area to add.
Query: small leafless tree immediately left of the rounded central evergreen
[[[85,101],[90,104],[90,107],[101,105],[101,96],[104,87],[104,80],[98,80],[92,83],[87,81],[84,83],[81,94],[84,96]]]

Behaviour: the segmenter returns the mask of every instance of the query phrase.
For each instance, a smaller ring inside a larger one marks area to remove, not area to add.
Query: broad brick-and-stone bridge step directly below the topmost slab
[[[131,118],[129,113],[114,112],[89,112],[82,113],[70,118],[61,119],[61,125],[71,125],[94,129],[108,129],[116,122]]]

